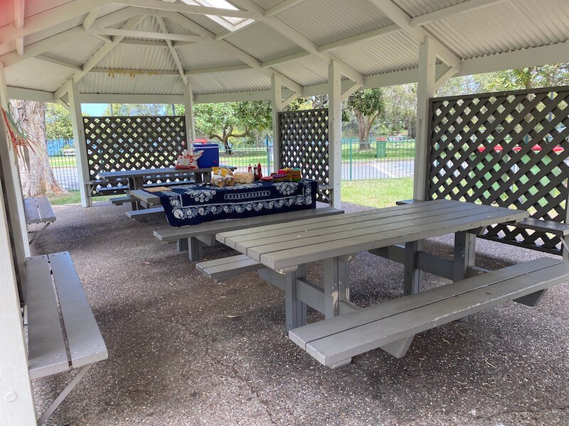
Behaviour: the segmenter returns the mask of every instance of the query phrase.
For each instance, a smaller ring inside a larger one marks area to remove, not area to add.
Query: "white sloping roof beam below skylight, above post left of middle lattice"
[[[166,17],[176,23],[179,23],[182,26],[185,26],[189,30],[201,35],[202,37],[211,38],[213,40],[216,36],[215,33],[212,33],[206,28],[199,26],[197,23],[193,22],[191,19],[187,18],[186,16],[181,15],[180,13],[169,13]],[[215,45],[218,46],[218,48],[225,50],[225,52],[233,56],[233,58],[240,60],[241,62],[243,62],[246,65],[249,65],[252,68],[260,70],[269,77],[272,77],[273,74],[279,75],[282,78],[282,84],[285,84],[285,86],[287,86],[289,89],[293,90],[294,92],[302,93],[302,86],[300,84],[289,79],[289,77],[282,75],[277,70],[273,70],[272,68],[261,67],[261,61],[253,57],[249,53],[245,52],[245,50],[241,50],[240,48],[236,47],[235,45],[232,45],[226,40],[214,40],[214,42]]]

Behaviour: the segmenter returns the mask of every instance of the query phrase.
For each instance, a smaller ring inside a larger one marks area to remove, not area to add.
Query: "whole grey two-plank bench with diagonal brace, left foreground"
[[[67,251],[26,259],[24,287],[30,378],[80,368],[41,415],[38,423],[42,424],[91,366],[107,359],[107,346]]]

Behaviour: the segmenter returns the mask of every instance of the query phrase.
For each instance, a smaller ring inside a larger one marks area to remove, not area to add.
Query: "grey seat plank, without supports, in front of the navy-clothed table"
[[[160,229],[158,231],[154,231],[154,236],[156,236],[160,241],[174,242],[182,238],[217,234],[218,232],[236,231],[252,226],[292,222],[307,218],[316,218],[316,220],[321,220],[322,217],[342,213],[344,213],[343,210],[324,207],[321,209],[299,210],[297,212],[266,214],[264,216],[244,217],[243,219],[226,219],[217,220],[215,222],[205,222],[198,225],[180,226],[179,228],[174,229]]]

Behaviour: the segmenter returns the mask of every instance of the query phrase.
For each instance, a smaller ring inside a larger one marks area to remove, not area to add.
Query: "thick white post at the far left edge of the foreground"
[[[6,143],[4,126],[0,124],[0,144]],[[4,195],[2,185],[0,180],[0,194]],[[36,425],[8,226],[6,204],[0,196],[0,419],[3,425]]]

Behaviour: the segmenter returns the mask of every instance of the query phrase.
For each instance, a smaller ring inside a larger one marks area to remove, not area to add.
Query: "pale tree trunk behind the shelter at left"
[[[38,143],[37,146],[33,146],[33,151],[23,148],[28,151],[26,154],[22,148],[18,148],[21,154],[18,157],[18,166],[23,196],[38,197],[67,193],[53,177],[49,164],[46,146],[46,104],[11,100],[10,111],[14,121],[27,133],[28,138]],[[24,155],[29,156],[29,165],[24,161]]]

